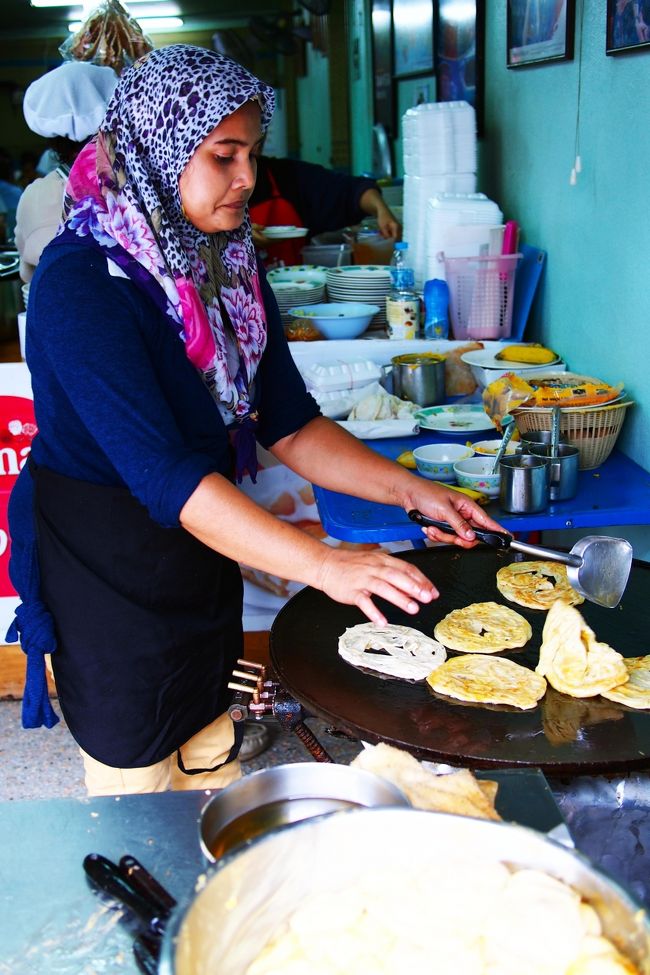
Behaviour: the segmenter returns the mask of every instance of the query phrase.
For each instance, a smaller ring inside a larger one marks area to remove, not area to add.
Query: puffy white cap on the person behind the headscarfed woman
[[[99,128],[117,81],[112,68],[66,61],[28,87],[25,121],[32,132],[48,139],[65,136],[84,142]]]

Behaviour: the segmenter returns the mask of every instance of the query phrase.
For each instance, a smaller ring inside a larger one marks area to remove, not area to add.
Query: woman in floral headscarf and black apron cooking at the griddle
[[[236,480],[254,475],[256,440],[311,481],[458,533],[432,539],[468,548],[471,524],[497,527],[306,393],[246,212],[272,109],[270,88],[212,51],[173,45],[136,62],[72,168],[67,218],[32,280],[39,432],[10,503],[24,723],[57,720],[43,667],[55,651],[92,795],[240,774],[225,713],[242,652],[238,561],[377,623],[377,597],[415,614],[438,595],[414,566],[330,548],[247,498]]]

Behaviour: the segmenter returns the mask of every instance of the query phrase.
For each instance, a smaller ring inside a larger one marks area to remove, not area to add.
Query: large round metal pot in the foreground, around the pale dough
[[[379,862],[388,871],[400,869],[404,884],[415,872],[435,877],[436,865],[450,851],[476,861],[545,870],[570,884],[595,909],[604,934],[643,975],[650,973],[645,912],[580,854],[509,823],[369,809],[307,820],[224,857],[208,872],[197,896],[168,922],[160,975],[243,975],[310,894],[336,896]]]

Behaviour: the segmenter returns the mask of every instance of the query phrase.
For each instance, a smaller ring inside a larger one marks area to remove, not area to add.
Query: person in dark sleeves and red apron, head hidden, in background
[[[377,220],[382,236],[401,237],[401,225],[373,179],[269,156],[260,156],[257,169],[248,212],[253,240],[267,268],[302,264],[302,248],[311,237],[359,223],[368,216]],[[264,228],[274,226],[306,227],[307,234],[270,241],[264,237]]]

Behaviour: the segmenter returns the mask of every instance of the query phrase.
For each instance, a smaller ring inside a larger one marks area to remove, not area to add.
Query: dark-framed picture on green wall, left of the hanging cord
[[[508,0],[509,68],[573,60],[575,0]]]

